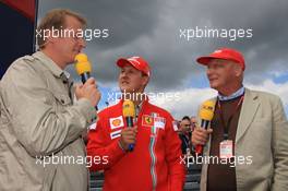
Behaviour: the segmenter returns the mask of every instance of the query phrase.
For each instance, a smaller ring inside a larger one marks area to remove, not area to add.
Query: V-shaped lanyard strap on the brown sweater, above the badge
[[[228,140],[228,132],[229,132],[230,123],[231,123],[231,121],[233,119],[233,116],[236,115],[237,110],[239,109],[240,105],[242,104],[243,98],[244,98],[244,95],[241,96],[241,98],[238,102],[235,110],[232,111],[231,116],[228,118],[227,123],[225,123],[225,121],[224,121],[224,116],[223,116],[220,100],[219,99],[217,100],[217,106],[218,106],[219,115],[220,115],[220,122],[221,122],[221,126],[224,127],[224,140]]]

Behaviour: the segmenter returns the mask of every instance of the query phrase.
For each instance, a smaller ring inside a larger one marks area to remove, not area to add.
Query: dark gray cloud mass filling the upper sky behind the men
[[[153,68],[152,89],[177,89],[204,74],[195,64],[199,56],[218,47],[241,50],[247,60],[245,79],[257,84],[272,71],[287,71],[287,0],[40,0],[39,15],[52,8],[84,14],[92,28],[109,28],[105,40],[94,39],[86,52],[94,74],[103,83],[117,79],[119,57],[143,56]],[[180,28],[252,28],[253,37],[230,41],[180,38]],[[73,71],[70,69],[73,73]],[[74,75],[74,73],[73,73]]]

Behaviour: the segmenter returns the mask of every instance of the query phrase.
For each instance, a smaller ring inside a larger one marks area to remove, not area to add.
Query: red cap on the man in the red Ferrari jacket
[[[135,69],[142,71],[146,75],[151,75],[151,67],[148,62],[146,62],[143,58],[141,57],[130,57],[130,58],[120,58],[117,60],[117,65],[122,68],[124,67],[125,63],[131,64]]]

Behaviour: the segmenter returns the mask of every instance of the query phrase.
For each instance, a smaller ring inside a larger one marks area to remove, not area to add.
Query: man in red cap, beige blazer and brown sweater
[[[201,190],[288,190],[288,122],[281,100],[243,87],[243,56],[221,48],[200,57],[218,92],[208,130],[195,128],[193,145],[205,145]],[[225,163],[226,162],[226,163]]]

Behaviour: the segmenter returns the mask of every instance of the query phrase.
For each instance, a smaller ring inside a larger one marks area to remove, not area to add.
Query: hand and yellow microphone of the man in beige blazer
[[[201,127],[196,127],[192,133],[192,144],[195,146],[196,154],[202,154],[203,145],[208,141],[209,134],[213,132],[209,127],[211,120],[214,116],[215,103],[207,100],[202,104],[199,117],[201,119]]]

